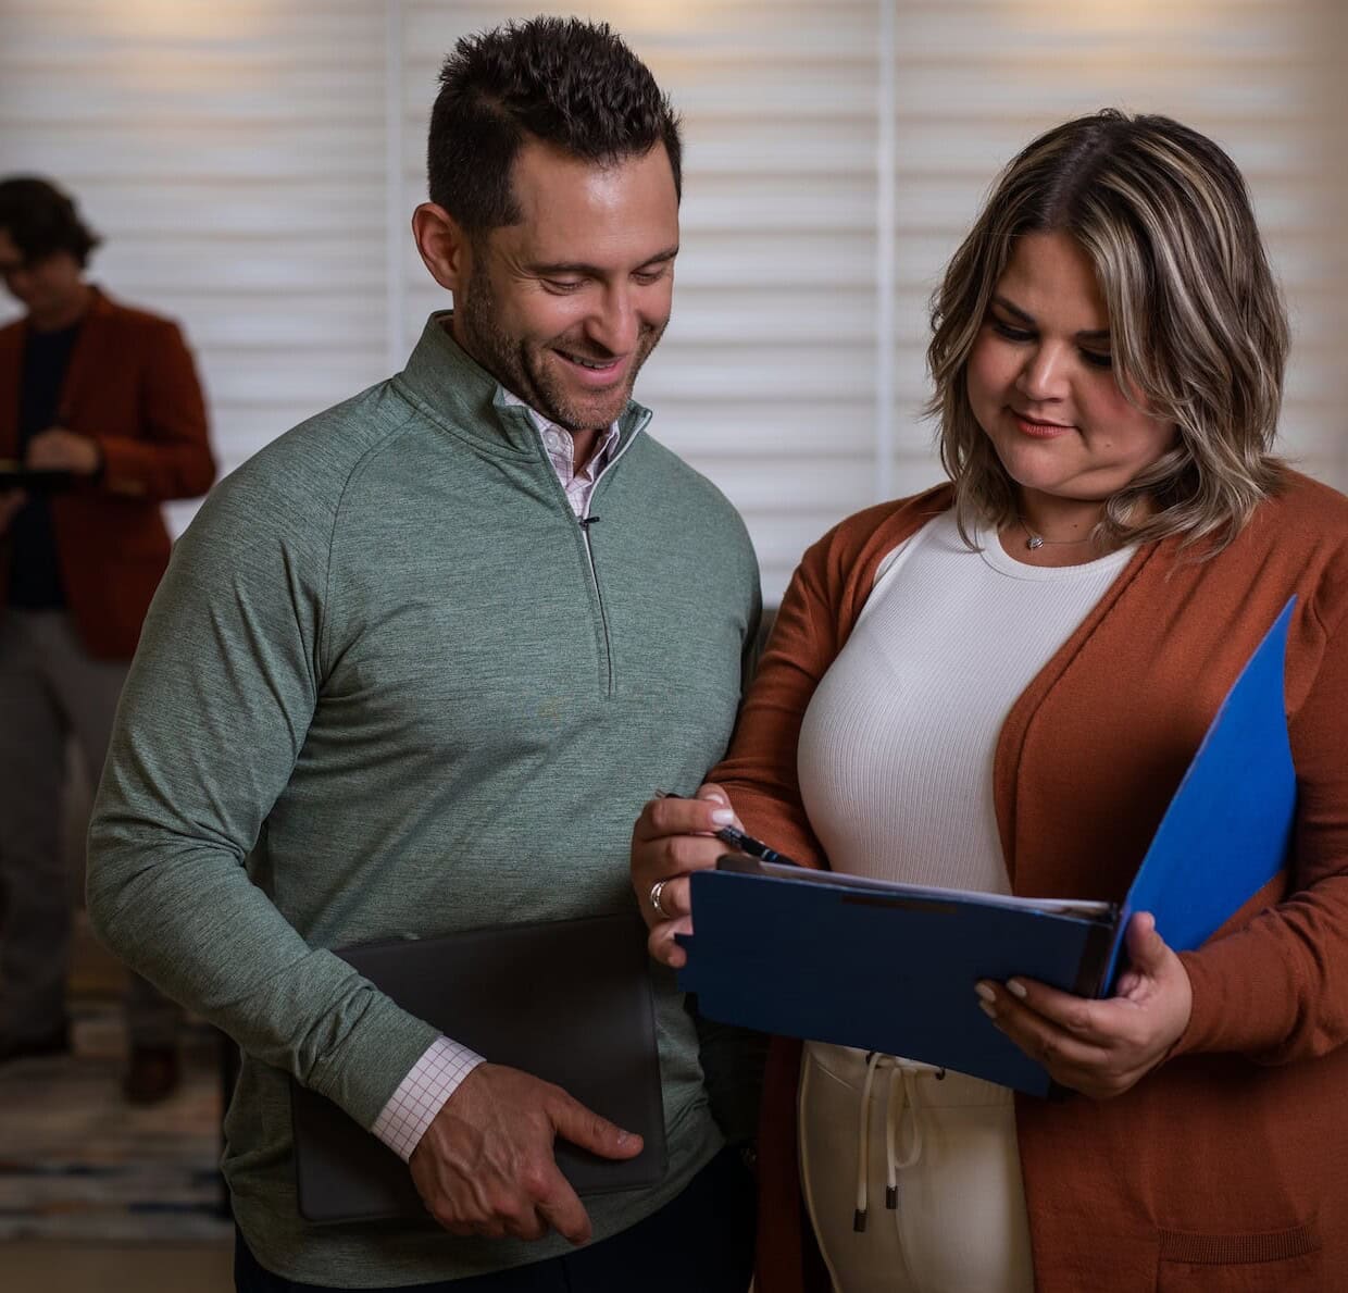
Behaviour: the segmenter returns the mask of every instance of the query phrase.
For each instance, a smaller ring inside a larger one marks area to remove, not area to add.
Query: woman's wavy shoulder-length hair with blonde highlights
[[[967,542],[1016,519],[1014,484],[969,407],[969,352],[1026,233],[1066,233],[1095,266],[1113,369],[1175,446],[1112,495],[1096,541],[1231,542],[1278,488],[1287,314],[1250,194],[1211,139],[1162,116],[1105,109],[1035,139],[1002,173],[931,298],[927,365],[941,462]],[[1150,500],[1150,508],[1138,504]],[[1140,519],[1134,519],[1140,518]],[[972,543],[971,543],[972,546]]]

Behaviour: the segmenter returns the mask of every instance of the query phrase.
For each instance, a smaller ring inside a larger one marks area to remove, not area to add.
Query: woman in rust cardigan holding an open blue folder
[[[1268,452],[1287,326],[1243,181],[1165,117],[1058,127],[1003,174],[933,328],[950,483],[805,554],[713,785],[638,822],[652,955],[681,964],[686,875],[727,818],[837,871],[1117,901],[1293,595],[1295,845],[1197,952],[1135,917],[1109,1000],[971,984],[1065,1102],[776,1044],[759,1293],[1328,1288],[1348,1270],[1348,500]]]

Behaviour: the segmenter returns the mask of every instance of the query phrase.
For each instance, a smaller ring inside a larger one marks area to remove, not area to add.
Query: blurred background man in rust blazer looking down
[[[182,333],[85,279],[97,243],[53,185],[0,182],[0,275],[26,311],[0,329],[0,1060],[69,1048],[66,743],[96,783],[168,564],[159,504],[216,473]],[[139,979],[127,1007],[125,1092],[150,1103],[178,1081],[178,1010]]]

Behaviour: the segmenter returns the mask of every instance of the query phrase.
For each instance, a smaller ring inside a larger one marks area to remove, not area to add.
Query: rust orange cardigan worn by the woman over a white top
[[[725,760],[747,829],[825,864],[801,806],[801,719],[880,558],[949,487],[842,522],[802,558]],[[1109,1102],[1016,1097],[1042,1293],[1348,1288],[1348,500],[1289,473],[1221,554],[1140,549],[1016,701],[993,764],[1016,894],[1117,901],[1227,688],[1299,599],[1286,705],[1290,868],[1200,951],[1171,1058]],[[802,1223],[799,1045],[764,1088],[759,1293],[828,1288]]]

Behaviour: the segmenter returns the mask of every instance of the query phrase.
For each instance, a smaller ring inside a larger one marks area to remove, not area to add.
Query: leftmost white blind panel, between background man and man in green
[[[0,8],[0,173],[70,189],[94,280],[183,324],[222,471],[386,373],[380,4]]]

